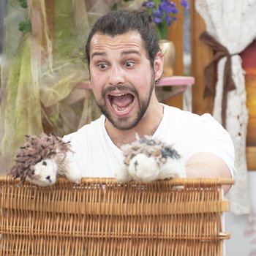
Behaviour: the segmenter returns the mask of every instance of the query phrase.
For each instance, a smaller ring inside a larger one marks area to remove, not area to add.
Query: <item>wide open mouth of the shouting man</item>
[[[134,95],[132,94],[108,94],[110,105],[118,115],[129,113],[134,105]]]

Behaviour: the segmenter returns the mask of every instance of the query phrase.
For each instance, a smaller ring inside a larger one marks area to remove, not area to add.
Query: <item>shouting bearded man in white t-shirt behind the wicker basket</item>
[[[103,115],[64,137],[72,143],[83,176],[113,177],[123,165],[120,147],[135,140],[136,133],[173,145],[186,162],[187,177],[233,175],[233,143],[214,118],[157,100],[155,84],[164,56],[147,12],[119,10],[99,18],[89,34],[86,57]]]

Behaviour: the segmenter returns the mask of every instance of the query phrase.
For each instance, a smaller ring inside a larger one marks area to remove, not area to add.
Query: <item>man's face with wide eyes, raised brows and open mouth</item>
[[[154,72],[140,34],[94,34],[90,58],[97,105],[114,127],[132,129],[146,113],[154,90]]]

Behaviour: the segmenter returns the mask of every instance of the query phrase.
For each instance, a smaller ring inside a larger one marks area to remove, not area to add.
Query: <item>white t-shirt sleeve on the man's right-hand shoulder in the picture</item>
[[[235,150],[229,133],[210,114],[199,117],[199,123],[192,129],[192,140],[189,143],[189,156],[195,153],[208,152],[216,154],[229,167],[233,177],[235,172]]]

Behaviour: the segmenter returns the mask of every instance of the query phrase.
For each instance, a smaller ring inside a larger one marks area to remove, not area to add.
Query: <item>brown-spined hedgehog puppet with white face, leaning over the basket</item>
[[[82,173],[73,155],[70,143],[55,135],[26,135],[26,143],[19,148],[9,174],[41,187],[55,184],[57,176],[79,183]]]

